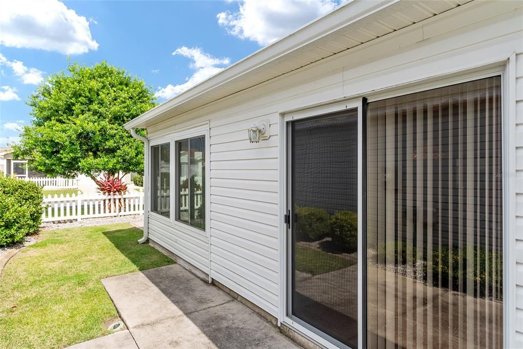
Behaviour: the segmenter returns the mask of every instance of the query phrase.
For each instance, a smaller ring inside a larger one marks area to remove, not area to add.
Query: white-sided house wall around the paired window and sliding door
[[[151,214],[150,239],[285,320],[282,114],[349,97],[409,93],[417,88],[413,82],[426,81],[427,89],[439,87],[447,84],[447,78],[440,77],[447,74],[454,74],[453,81],[483,74],[474,69],[506,72],[506,66],[513,66],[503,77],[508,82],[503,99],[515,94],[514,108],[504,110],[516,110],[504,115],[513,120],[505,124],[504,161],[513,164],[506,169],[522,174],[523,57],[514,54],[523,52],[521,6],[463,5],[150,127],[149,137],[155,139],[208,122],[210,136],[207,231],[195,234]],[[249,143],[247,128],[266,119],[270,139]],[[511,347],[523,345],[523,179],[516,177],[505,183],[505,243],[511,251],[505,261],[505,326]],[[514,208],[507,202],[514,202]]]

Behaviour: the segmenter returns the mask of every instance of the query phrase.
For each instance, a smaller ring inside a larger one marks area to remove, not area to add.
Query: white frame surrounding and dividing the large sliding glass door
[[[511,173],[511,169],[514,170],[513,162],[507,161],[508,159],[515,159],[515,54],[512,54],[507,60],[498,61],[483,66],[473,66],[468,69],[460,70],[457,72],[445,73],[437,76],[430,76],[422,78],[420,80],[412,81],[401,85],[391,85],[390,87],[382,88],[377,91],[362,93],[359,96],[368,98],[368,103],[376,100],[398,97],[410,93],[416,93],[421,91],[427,91],[429,89],[464,83],[473,80],[479,80],[481,78],[491,77],[500,75],[502,80],[502,153],[503,153],[503,172]],[[509,79],[507,79],[507,76]],[[357,103],[360,98],[347,98],[344,100],[338,100],[333,103],[325,103],[322,105],[305,106],[301,109],[294,109],[280,113],[280,143],[279,143],[279,154],[280,154],[280,200],[279,200],[279,211],[280,215],[283,215],[283,211],[287,206],[287,122],[290,120],[297,120],[306,117],[312,117],[329,112],[340,111],[348,109],[349,105]],[[361,108],[358,108],[358,116],[360,117],[358,122],[358,190],[362,193],[362,128],[361,128]],[[504,346],[510,347],[513,344],[514,335],[516,333],[515,328],[515,247],[514,243],[508,243],[512,241],[514,236],[510,233],[510,228],[515,227],[515,212],[514,212],[514,199],[510,196],[510,193],[515,193],[514,180],[508,178],[504,179],[503,183],[503,244],[504,244],[504,256],[503,256],[503,276],[504,276],[504,295],[503,295],[503,338]],[[362,215],[362,196],[358,195],[358,215]],[[513,205],[513,206],[510,206]],[[285,323],[291,329],[301,333],[305,337],[308,337],[312,341],[320,344],[326,348],[338,348],[331,342],[326,341],[323,337],[317,335],[313,331],[303,327],[297,322],[293,321],[287,316],[287,228],[282,223],[283,219],[279,219],[279,231],[280,231],[280,254],[279,254],[279,297],[280,307],[278,311],[278,325]],[[362,275],[362,263],[360,263],[363,251],[360,250],[361,244],[361,221],[358,222],[358,347],[362,345],[362,334],[363,329],[363,304],[362,298],[362,286],[363,275]],[[361,253],[360,253],[361,251]]]

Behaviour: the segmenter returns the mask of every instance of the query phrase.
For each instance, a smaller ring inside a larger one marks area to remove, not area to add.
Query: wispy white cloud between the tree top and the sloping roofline
[[[215,58],[209,53],[203,52],[200,48],[187,48],[185,46],[176,49],[173,55],[182,55],[190,58],[191,62],[189,67],[195,70],[194,74],[190,77],[185,78],[185,83],[172,85],[168,84],[163,88],[158,88],[158,91],[154,94],[157,98],[167,100],[173,98],[176,95],[186,91],[192,86],[206,80],[214,74],[219,73],[224,67],[217,65],[229,65],[231,60],[229,58]]]

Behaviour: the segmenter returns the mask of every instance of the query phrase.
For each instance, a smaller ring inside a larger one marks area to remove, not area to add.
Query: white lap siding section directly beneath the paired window
[[[209,239],[202,234],[185,231],[169,221],[149,215],[149,238],[170,252],[209,274]]]

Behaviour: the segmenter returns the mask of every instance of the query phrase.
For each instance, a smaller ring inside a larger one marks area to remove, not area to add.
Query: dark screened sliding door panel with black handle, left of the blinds
[[[288,123],[289,313],[358,345],[358,111]]]

